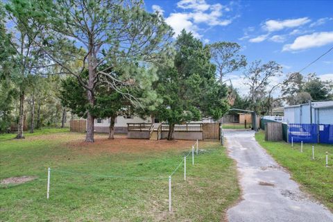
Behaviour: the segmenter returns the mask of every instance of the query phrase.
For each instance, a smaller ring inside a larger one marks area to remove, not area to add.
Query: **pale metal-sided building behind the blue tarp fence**
[[[333,124],[333,101],[312,102],[284,107],[287,123]]]

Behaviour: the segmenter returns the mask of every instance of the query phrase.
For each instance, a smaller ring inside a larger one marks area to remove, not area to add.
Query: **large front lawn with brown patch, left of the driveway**
[[[38,178],[1,185],[0,221],[221,221],[239,198],[235,164],[218,142],[199,142],[204,151],[195,157],[194,166],[191,155],[187,158],[187,181],[183,165],[173,175],[169,212],[167,177],[194,142],[123,137],[112,141],[108,135],[96,135],[96,142],[87,144],[84,137],[53,133],[1,139],[0,180]],[[49,200],[47,167],[58,170],[51,171]]]

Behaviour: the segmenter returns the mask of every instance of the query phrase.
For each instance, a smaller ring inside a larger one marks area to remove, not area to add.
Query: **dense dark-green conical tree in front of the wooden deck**
[[[169,123],[168,139],[176,124],[203,117],[219,119],[228,110],[227,89],[215,78],[210,49],[185,30],[176,40],[173,66],[161,67],[156,91],[162,98],[156,116]]]

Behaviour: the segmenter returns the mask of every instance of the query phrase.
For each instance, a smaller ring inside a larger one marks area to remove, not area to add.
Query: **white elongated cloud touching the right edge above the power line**
[[[298,51],[333,43],[333,32],[312,33],[296,38],[292,44],[285,44],[282,51]]]

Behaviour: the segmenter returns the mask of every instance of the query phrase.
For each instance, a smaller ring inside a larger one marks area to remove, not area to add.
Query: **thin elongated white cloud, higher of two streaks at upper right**
[[[311,22],[311,20],[308,17],[303,17],[299,19],[285,19],[285,20],[271,19],[264,23],[264,29],[270,32],[280,31],[284,28],[293,28],[293,27],[302,26],[309,22]]]

